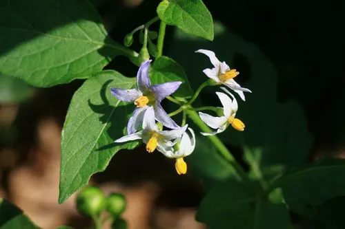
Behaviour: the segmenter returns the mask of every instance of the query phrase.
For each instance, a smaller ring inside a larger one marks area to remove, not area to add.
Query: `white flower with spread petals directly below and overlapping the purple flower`
[[[148,153],[152,153],[155,149],[164,154],[172,153],[174,150],[172,146],[174,146],[176,142],[172,142],[171,140],[180,138],[186,131],[188,124],[170,131],[159,131],[155,122],[155,111],[153,107],[148,107],[144,113],[142,127],[143,129],[141,131],[125,135],[115,140],[115,142],[128,142],[142,139],[146,144],[146,151],[148,151]]]

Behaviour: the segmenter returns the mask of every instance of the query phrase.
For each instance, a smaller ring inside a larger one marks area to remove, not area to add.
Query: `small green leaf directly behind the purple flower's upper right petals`
[[[193,96],[193,89],[190,87],[184,68],[176,61],[167,56],[160,56],[150,67],[150,78],[152,84],[166,83],[169,81],[182,81],[182,85],[175,92],[174,96]]]

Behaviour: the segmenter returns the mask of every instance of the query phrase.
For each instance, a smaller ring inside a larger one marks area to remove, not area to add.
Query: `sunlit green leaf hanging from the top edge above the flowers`
[[[201,0],[164,0],[159,3],[157,14],[167,25],[213,41],[212,15]]]

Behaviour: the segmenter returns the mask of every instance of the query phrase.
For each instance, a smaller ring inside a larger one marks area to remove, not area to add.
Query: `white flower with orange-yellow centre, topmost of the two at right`
[[[246,98],[244,97],[243,91],[247,91],[247,92],[252,92],[252,91],[250,91],[250,89],[241,87],[233,79],[239,75],[239,72],[237,72],[236,69],[230,69],[230,67],[224,61],[220,62],[218,58],[215,56],[215,53],[210,50],[197,50],[195,52],[199,52],[208,56],[213,66],[215,66],[213,67],[213,69],[206,68],[203,70],[204,74],[206,74],[208,78],[211,78],[215,80],[215,82],[221,83],[223,85],[226,85],[226,87],[233,89],[233,91],[239,94],[239,97],[241,97],[242,100],[244,101],[246,100]]]

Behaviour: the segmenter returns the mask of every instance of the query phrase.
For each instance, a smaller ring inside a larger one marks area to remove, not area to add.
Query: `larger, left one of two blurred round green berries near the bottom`
[[[79,212],[89,217],[99,215],[105,208],[105,199],[103,192],[99,188],[89,186],[78,194],[77,208]]]

